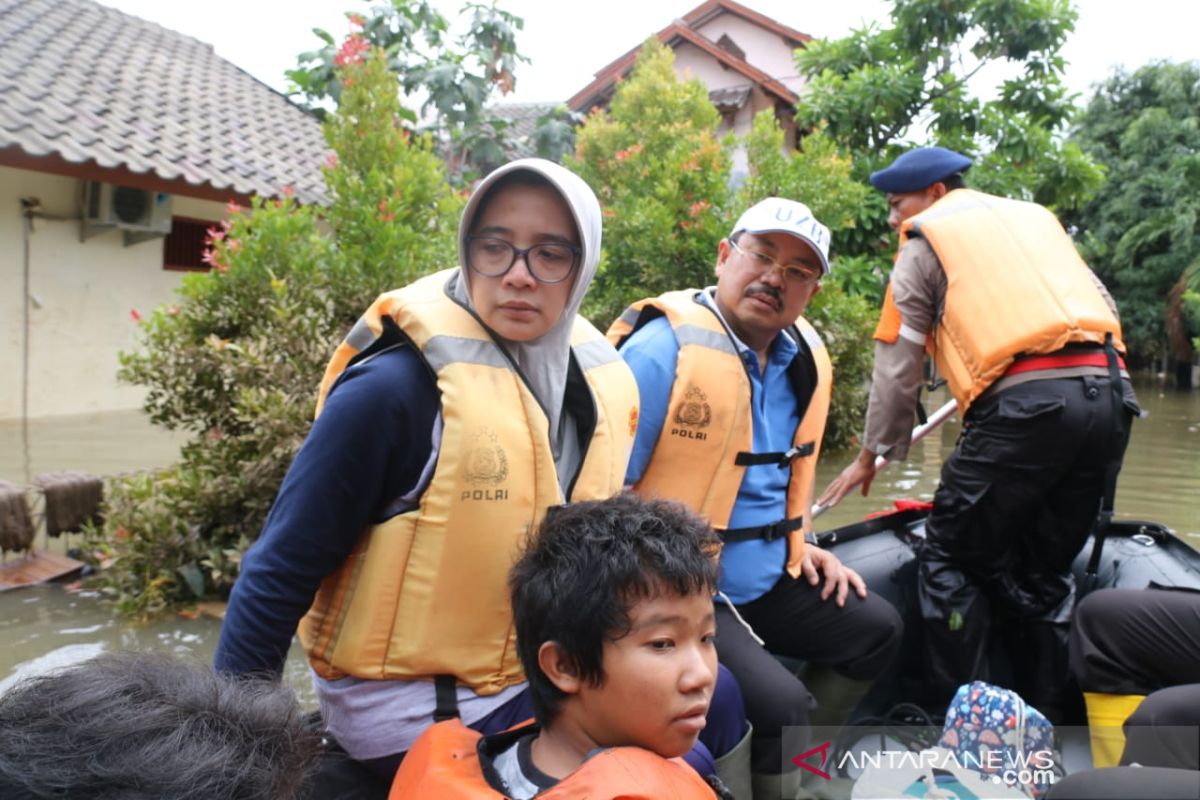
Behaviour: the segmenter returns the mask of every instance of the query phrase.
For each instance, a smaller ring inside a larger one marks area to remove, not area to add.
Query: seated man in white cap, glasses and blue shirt
[[[782,728],[809,724],[812,696],[860,697],[900,643],[895,609],[805,542],[833,371],[800,314],[828,273],[829,229],[768,198],[718,246],[716,287],[642,300],[608,330],[641,396],[625,482],[685,503],[724,541],[716,651],[754,726],[755,796],[794,794]],[[770,652],[829,669],[805,686]]]

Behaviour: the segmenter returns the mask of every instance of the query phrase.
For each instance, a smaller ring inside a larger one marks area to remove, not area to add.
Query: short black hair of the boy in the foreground
[[[719,540],[686,506],[622,493],[551,509],[509,573],[517,652],[534,716],[553,721],[565,694],[538,666],[557,642],[600,686],[604,643],[629,633],[630,608],[661,595],[716,591]]]

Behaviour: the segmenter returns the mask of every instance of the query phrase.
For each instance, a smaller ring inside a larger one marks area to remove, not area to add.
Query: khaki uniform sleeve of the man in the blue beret
[[[925,337],[946,300],[946,272],[923,239],[900,249],[892,271],[892,293],[900,311],[900,338],[875,343],[875,371],[866,407],[863,446],[888,461],[907,457],[925,360]]]

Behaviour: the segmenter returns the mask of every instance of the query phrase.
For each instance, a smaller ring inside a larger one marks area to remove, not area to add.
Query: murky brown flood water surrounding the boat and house
[[[1200,391],[1138,386],[1150,417],[1135,422],[1117,489],[1117,516],[1148,519],[1174,529],[1200,549]],[[944,398],[935,396],[929,408]],[[932,498],[942,459],[954,446],[959,422],[952,419],[912,447],[910,461],[876,477],[871,497],[847,498],[817,521],[818,529],[857,522],[890,507],[895,499]],[[28,483],[32,475],[58,469],[114,474],[164,465],[182,438],[150,426],[140,414],[122,411],[31,421],[25,449],[19,422],[0,422],[0,479]],[[818,491],[853,457],[822,453]],[[64,547],[61,541],[52,548]],[[10,555],[10,558],[14,558]],[[0,691],[20,675],[88,658],[102,650],[156,649],[206,663],[220,622],[200,616],[168,616],[148,625],[116,619],[95,596],[68,594],[60,585],[0,593]],[[287,680],[312,703],[307,668],[294,645]]]

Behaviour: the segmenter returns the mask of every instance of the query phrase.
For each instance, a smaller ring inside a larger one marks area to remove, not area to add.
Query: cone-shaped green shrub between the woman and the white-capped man
[[[673,52],[650,38],[608,112],[594,112],[568,161],[604,209],[600,271],[584,313],[601,329],[646,296],[713,282],[728,233],[732,138],[718,134],[708,90],[679,80]]]

